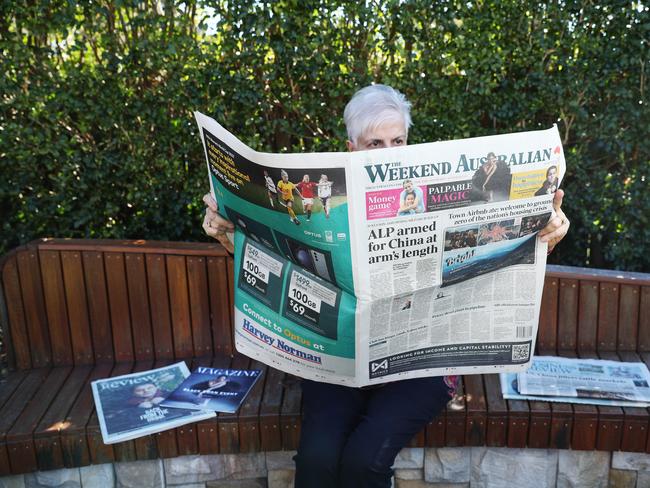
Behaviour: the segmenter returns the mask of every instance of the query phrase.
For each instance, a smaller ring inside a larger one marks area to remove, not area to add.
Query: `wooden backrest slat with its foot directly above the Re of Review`
[[[112,362],[115,358],[115,351],[113,348],[108,291],[106,290],[104,255],[97,251],[84,251],[81,256],[86,280],[88,316],[92,327],[95,361],[98,363]]]

